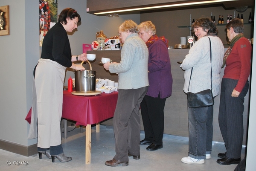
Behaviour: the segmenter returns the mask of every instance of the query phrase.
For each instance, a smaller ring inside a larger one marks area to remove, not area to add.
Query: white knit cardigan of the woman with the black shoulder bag
[[[183,91],[188,92],[189,78],[191,68],[193,67],[192,77],[189,86],[189,92],[197,93],[207,90],[211,86],[210,82],[210,45],[209,38],[212,44],[212,94],[217,96],[221,83],[221,65],[224,57],[224,46],[220,38],[216,36],[205,36],[200,38],[194,46],[189,50],[189,54],[183,60],[182,69],[184,73]]]

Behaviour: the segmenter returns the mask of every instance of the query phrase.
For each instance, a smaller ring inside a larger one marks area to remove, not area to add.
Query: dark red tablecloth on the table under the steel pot
[[[96,124],[111,118],[116,109],[118,92],[101,93],[95,96],[76,96],[63,91],[62,118],[76,121],[76,125]],[[30,123],[31,109],[26,116]]]

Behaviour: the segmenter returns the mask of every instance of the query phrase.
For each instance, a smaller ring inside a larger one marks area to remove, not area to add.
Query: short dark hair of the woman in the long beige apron
[[[62,24],[67,24],[67,18],[73,20],[75,17],[78,17],[78,23],[81,21],[80,15],[76,12],[75,9],[66,8],[61,11],[61,14],[58,15],[58,22]]]

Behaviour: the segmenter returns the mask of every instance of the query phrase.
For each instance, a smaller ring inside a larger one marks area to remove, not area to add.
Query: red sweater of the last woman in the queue
[[[226,60],[223,78],[239,80],[235,90],[240,92],[250,75],[252,46],[246,38],[240,38]]]

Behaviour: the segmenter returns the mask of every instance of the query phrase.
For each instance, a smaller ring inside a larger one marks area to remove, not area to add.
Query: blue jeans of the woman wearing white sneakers
[[[188,107],[189,157],[205,159],[212,152],[213,105],[208,107]]]

